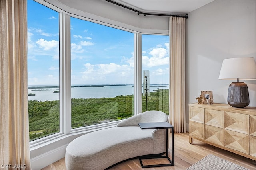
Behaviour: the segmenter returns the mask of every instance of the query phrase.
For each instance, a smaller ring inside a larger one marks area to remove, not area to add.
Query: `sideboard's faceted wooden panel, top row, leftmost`
[[[189,120],[204,123],[204,108],[189,107]]]

